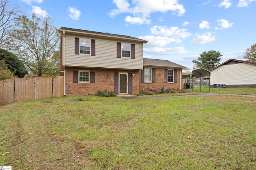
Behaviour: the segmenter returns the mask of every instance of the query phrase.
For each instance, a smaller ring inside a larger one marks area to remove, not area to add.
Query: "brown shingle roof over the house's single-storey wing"
[[[168,60],[159,60],[159,59],[146,59],[143,58],[143,66],[158,66],[158,67],[174,67],[174,68],[186,68],[180,64],[173,63]]]

